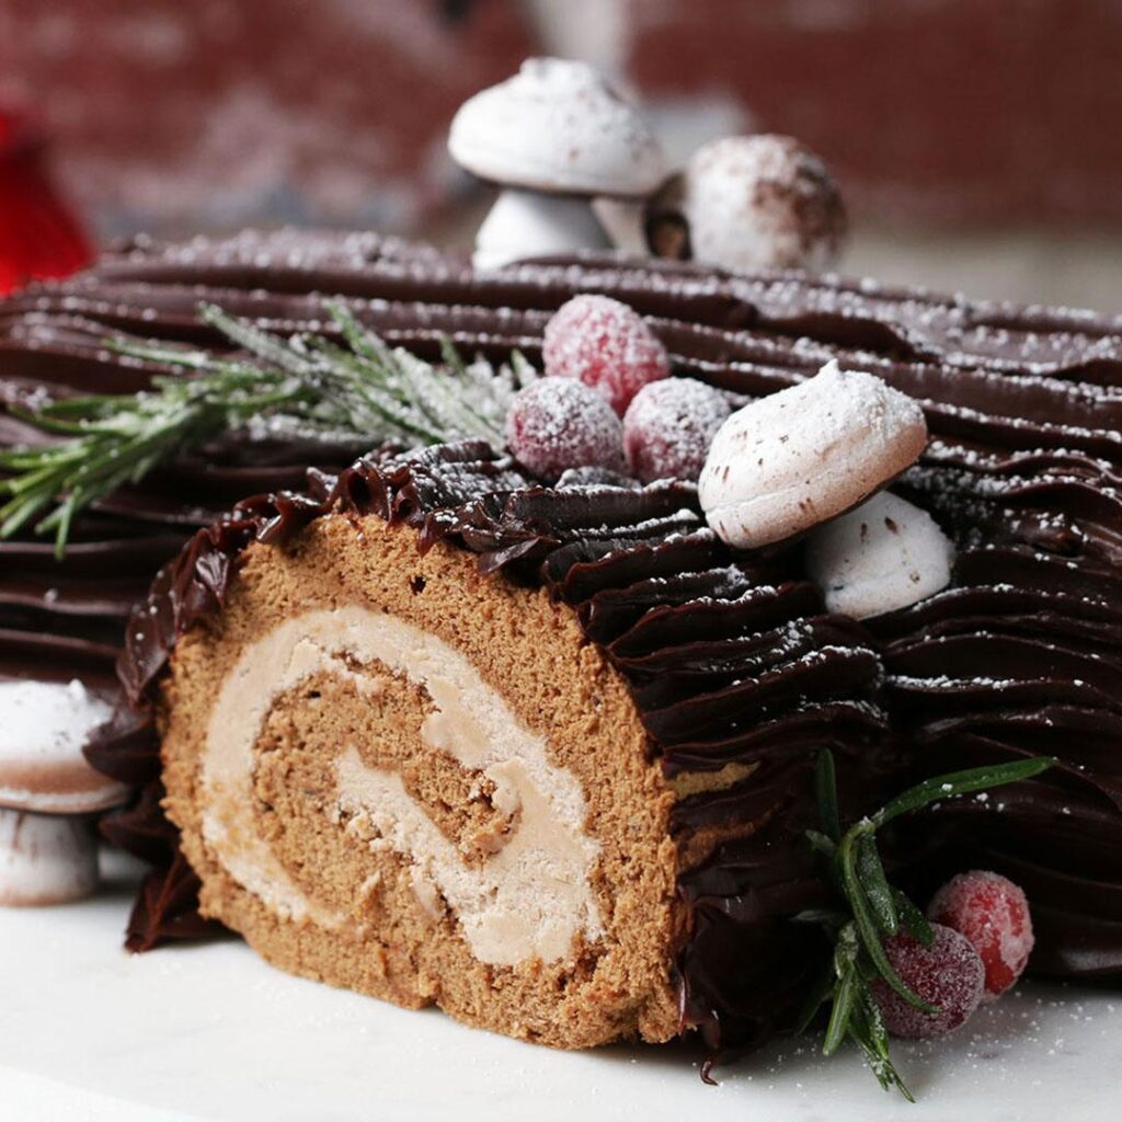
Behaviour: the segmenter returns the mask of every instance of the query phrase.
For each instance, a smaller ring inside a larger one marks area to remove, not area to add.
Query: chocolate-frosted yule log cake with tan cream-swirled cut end
[[[79,514],[59,562],[28,531],[0,544],[4,673],[34,662],[109,697],[131,610],[126,703],[88,751],[137,789],[104,833],[157,866],[130,944],[206,917],[286,969],[553,1045],[686,1027],[753,1045],[794,1027],[828,953],[791,921],[831,893],[806,843],[824,748],[844,822],[913,780],[1049,755],[1039,778],[901,819],[885,861],[917,890],[1005,873],[1031,901],[1031,969],[1122,977],[1122,320],[611,255],[473,272],[370,234],[247,232],[135,242],[7,301],[2,385],[25,403],[135,392],[169,351],[237,358],[200,304],[339,341],[329,298],[421,359],[447,339],[540,367],[583,293],[640,313],[668,380],[726,412],[866,375],[918,403],[918,460],[808,525],[842,534],[891,484],[889,531],[911,518],[946,545],[936,590],[847,608],[840,562],[827,550],[824,570],[795,523],[730,543],[712,503],[739,517],[718,495],[737,476],[711,461],[699,491],[535,472],[478,440],[356,461],[350,439],[250,425]],[[107,344],[121,335],[148,357]]]

